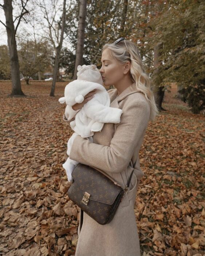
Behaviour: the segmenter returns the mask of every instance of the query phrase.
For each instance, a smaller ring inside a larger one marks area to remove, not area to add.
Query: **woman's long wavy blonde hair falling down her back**
[[[137,46],[131,41],[123,40],[118,44],[105,44],[102,52],[107,48],[110,49],[112,57],[120,63],[125,64],[126,61],[130,61],[131,78],[133,83],[136,83],[136,88],[145,95],[146,100],[149,102],[151,109],[150,120],[153,121],[158,114],[158,109],[153,91],[151,91],[151,82],[143,67]]]

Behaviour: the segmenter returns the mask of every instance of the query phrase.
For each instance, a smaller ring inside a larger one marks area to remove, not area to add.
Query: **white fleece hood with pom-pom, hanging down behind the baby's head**
[[[104,92],[107,95],[107,100],[109,101],[110,98],[104,86],[100,85],[99,83],[84,80],[74,80],[67,84],[64,92],[65,97],[60,98],[59,102],[66,102],[66,105],[73,106],[76,103],[83,102],[84,96],[94,89],[97,89],[97,92]]]

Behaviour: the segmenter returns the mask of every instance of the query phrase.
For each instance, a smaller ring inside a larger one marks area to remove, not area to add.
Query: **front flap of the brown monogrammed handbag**
[[[79,163],[72,172],[72,177],[82,191],[90,194],[90,200],[100,203],[113,204],[123,188],[115,185],[108,177],[94,168]]]

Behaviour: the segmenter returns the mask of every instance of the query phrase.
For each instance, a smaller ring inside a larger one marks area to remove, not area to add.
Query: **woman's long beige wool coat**
[[[127,195],[119,204],[110,223],[100,225],[80,210],[75,255],[140,256],[134,204],[139,180],[144,175],[139,165],[139,150],[150,118],[150,105],[134,83],[119,96],[117,89],[107,92],[110,96],[110,106],[123,110],[121,122],[105,124],[101,132],[95,132],[94,143],[78,135],[72,145],[70,158],[107,172],[123,188],[126,187],[133,170],[132,162],[137,159],[137,163]],[[66,120],[66,117],[63,119]],[[70,124],[74,118],[67,119]]]

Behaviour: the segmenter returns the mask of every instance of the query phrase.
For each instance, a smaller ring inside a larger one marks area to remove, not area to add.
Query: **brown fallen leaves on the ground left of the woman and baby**
[[[66,84],[57,85],[59,97]],[[11,83],[4,85],[8,94]],[[72,131],[58,96],[48,96],[49,86],[30,89],[25,86],[25,98],[0,98],[0,254],[74,255],[79,209],[67,196],[62,167]]]

